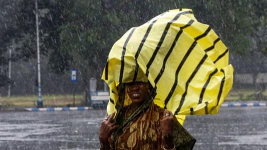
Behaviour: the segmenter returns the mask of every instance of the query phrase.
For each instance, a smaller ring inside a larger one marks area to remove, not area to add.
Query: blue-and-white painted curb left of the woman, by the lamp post
[[[46,107],[46,108],[25,108],[28,111],[70,111],[70,110],[89,110],[92,107]]]

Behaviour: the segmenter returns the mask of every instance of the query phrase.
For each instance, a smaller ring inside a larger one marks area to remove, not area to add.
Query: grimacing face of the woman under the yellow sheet
[[[135,81],[126,83],[126,90],[132,100],[132,104],[142,103],[150,94],[147,82]]]

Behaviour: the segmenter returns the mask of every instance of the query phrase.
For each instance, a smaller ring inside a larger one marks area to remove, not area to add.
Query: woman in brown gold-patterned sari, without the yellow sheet
[[[149,82],[123,83],[118,88],[121,107],[102,121],[101,149],[193,148],[195,139],[176,117],[154,104],[156,92]],[[123,106],[127,97],[131,103]]]

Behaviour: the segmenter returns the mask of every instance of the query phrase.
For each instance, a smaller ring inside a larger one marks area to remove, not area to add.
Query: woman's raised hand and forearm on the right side
[[[164,111],[163,118],[160,120],[160,127],[164,138],[164,148],[171,149],[175,145],[172,140],[173,115],[171,111]]]

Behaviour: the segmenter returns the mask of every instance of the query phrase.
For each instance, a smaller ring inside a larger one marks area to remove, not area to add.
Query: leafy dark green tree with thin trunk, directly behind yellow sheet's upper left
[[[80,70],[85,93],[90,77],[101,77],[113,43],[130,27],[161,13],[163,8],[157,9],[157,4],[143,0],[76,0],[64,11],[60,53],[73,57],[72,66]]]

